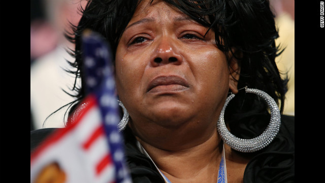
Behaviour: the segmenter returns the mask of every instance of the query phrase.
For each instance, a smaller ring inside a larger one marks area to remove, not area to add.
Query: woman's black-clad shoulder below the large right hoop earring
[[[272,171],[269,171],[271,170]],[[295,182],[295,116],[282,115],[279,133],[247,164],[244,182]]]

